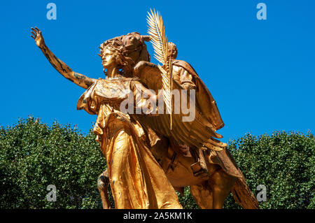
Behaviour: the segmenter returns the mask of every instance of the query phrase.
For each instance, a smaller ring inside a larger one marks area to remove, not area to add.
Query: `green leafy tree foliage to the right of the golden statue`
[[[253,194],[267,187],[267,201],[260,208],[315,208],[315,138],[297,132],[275,131],[256,137],[251,134],[231,141],[230,152]],[[225,208],[239,208],[232,196]]]

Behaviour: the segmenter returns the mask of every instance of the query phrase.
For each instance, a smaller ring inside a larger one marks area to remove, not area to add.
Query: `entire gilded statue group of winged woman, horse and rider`
[[[45,45],[41,30],[31,28],[48,62],[85,89],[77,109],[97,115],[94,134],[107,163],[97,181],[103,208],[111,208],[109,185],[116,208],[182,208],[176,190],[187,186],[201,208],[222,208],[230,192],[243,208],[258,208],[227,145],[217,139],[224,123],[209,89],[193,66],[176,59],[160,14],[151,11],[148,24],[148,36],[133,32],[99,46],[106,75],[99,79],[70,69]],[[146,41],[162,66],[150,62]],[[171,90],[178,90],[177,100]],[[191,120],[176,112],[184,103],[195,108]]]

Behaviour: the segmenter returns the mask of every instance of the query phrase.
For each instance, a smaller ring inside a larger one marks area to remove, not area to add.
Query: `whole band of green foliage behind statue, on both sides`
[[[267,187],[261,208],[315,208],[314,135],[248,134],[229,148],[252,192]],[[48,127],[33,117],[0,127],[0,208],[102,208],[97,178],[105,169],[92,131],[84,136],[69,125]],[[48,185],[57,188],[55,202],[46,199]],[[183,207],[197,208],[188,187],[184,194]],[[239,206],[229,196],[225,208]]]

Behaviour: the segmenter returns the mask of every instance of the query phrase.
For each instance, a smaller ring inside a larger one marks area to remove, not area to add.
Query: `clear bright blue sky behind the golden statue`
[[[49,2],[57,20],[46,18]],[[267,20],[256,18],[259,2]],[[1,1],[0,8],[2,126],[34,115],[87,133],[96,120],[76,110],[84,89],[52,68],[29,37],[31,27],[73,71],[104,78],[99,44],[146,34],[147,11],[155,8],[178,59],[193,65],[216,99],[223,141],[249,132],[314,133],[315,1]],[[148,49],[153,55],[151,43]]]

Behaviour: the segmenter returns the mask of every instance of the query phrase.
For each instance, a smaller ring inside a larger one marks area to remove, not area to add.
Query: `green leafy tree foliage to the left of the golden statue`
[[[97,178],[106,162],[92,132],[29,117],[0,128],[0,148],[0,208],[102,207]],[[48,185],[56,202],[46,199]]]

